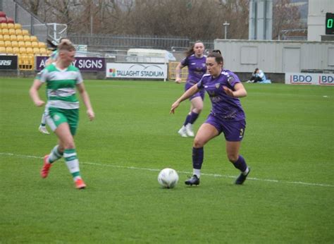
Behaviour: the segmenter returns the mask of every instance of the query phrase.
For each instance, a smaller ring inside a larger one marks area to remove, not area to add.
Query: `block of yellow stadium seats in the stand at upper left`
[[[17,55],[20,70],[33,70],[35,56],[49,56],[47,44],[0,11],[0,54]]]

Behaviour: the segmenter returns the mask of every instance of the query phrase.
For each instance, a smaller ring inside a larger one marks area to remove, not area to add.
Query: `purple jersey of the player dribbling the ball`
[[[228,96],[223,90],[223,86],[234,90],[236,83],[240,83],[237,75],[226,70],[221,71],[221,74],[216,78],[206,74],[197,83],[199,89],[204,88],[209,94],[212,104],[211,115],[222,121],[241,121],[245,119],[245,112],[242,109],[240,100],[236,97]]]

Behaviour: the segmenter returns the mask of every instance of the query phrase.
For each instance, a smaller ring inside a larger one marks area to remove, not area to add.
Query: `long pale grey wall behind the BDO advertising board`
[[[225,68],[251,73],[318,71],[334,73],[334,42],[256,41],[216,39]]]

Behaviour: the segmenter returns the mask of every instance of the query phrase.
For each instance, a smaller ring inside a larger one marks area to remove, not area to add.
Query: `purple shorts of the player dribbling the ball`
[[[246,121],[221,121],[221,119],[216,116],[209,115],[206,118],[205,123],[209,123],[211,126],[214,126],[218,133],[222,132],[225,135],[225,140],[228,142],[240,142],[244,138]]]

